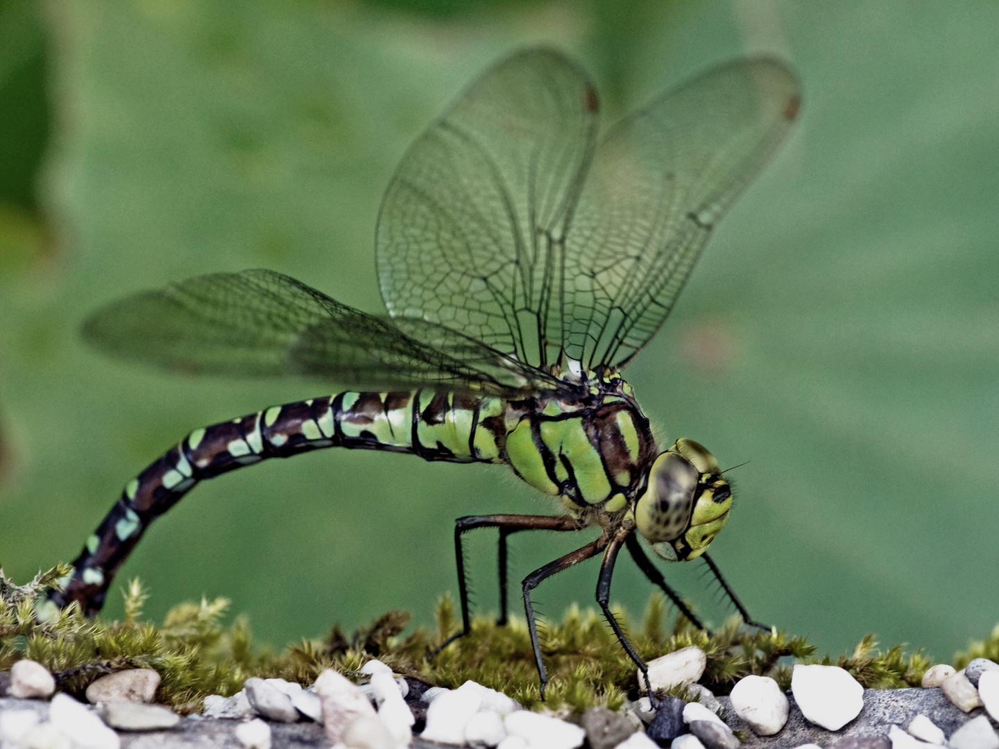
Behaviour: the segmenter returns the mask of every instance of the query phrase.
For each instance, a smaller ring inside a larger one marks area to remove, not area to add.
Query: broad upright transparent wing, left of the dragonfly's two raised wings
[[[563,238],[596,95],[556,52],[501,61],[403,159],[378,227],[393,318],[438,323],[543,368],[562,337]]]

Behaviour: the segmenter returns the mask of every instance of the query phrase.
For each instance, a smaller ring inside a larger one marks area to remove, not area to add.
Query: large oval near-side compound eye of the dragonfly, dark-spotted
[[[638,531],[652,543],[671,541],[690,526],[700,473],[676,452],[662,452],[648,473],[648,486],[635,504]]]

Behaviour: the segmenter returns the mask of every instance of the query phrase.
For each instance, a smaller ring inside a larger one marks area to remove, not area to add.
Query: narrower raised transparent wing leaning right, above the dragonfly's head
[[[665,92],[596,149],[566,241],[566,354],[623,367],[658,330],[714,223],[785,138],[800,102],[771,58]]]

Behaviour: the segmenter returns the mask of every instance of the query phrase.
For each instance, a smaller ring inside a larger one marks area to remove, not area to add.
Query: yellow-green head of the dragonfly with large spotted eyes
[[[652,462],[634,519],[663,559],[695,559],[724,526],[731,504],[714,455],[692,439],[677,439]]]

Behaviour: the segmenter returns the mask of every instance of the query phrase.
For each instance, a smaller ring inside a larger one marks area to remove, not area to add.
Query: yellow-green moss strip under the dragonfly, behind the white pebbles
[[[67,571],[68,567],[60,565],[18,586],[0,570],[0,670],[20,658],[32,658],[53,671],[61,689],[79,695],[103,674],[123,668],[155,668],[162,676],[158,701],[188,713],[200,710],[208,694],[235,693],[249,676],[277,676],[309,684],[325,668],[359,676],[361,666],[378,657],[399,673],[435,685],[456,687],[474,679],[526,707],[542,705],[522,619],[513,618],[500,627],[478,616],[469,636],[456,640],[437,657],[428,657],[460,628],[447,596],[438,605],[434,631],[418,627],[403,636],[409,614],[390,611],[351,636],[335,625],[325,638],[303,640],[276,653],[253,642],[246,617],[237,616],[223,626],[229,605],[223,598],[174,606],[160,626],[143,621],[148,594],[138,580],[123,590],[125,616],[120,622],[87,619],[75,604],[54,622],[36,620],[35,602],[43,600]],[[623,610],[614,611],[646,660],[688,645],[703,649],[707,667],[701,683],[715,694],[727,694],[747,674],[772,676],[787,689],[795,661],[841,666],[865,687],[873,688],[916,686],[931,665],[920,651],[906,655],[901,645],[881,652],[871,635],[850,654],[818,658],[814,646],[803,638],[747,628],[738,618],[708,635],[681,615],[667,626],[668,614],[658,595],[649,600],[640,623],[632,622]],[[538,625],[550,677],[543,703],[547,709],[578,715],[594,705],[618,709],[638,697],[634,664],[599,615],[573,606],[560,622],[540,620]],[[956,665],[982,655],[994,660],[999,656],[999,627],[986,641],[958,654]],[[670,691],[687,696],[684,687]]]

